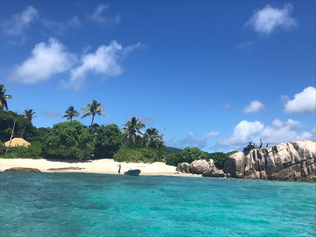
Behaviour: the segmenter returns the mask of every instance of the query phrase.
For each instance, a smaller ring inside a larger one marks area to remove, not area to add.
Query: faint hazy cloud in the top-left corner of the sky
[[[23,42],[26,38],[25,30],[38,17],[39,12],[33,6],[27,6],[21,13],[13,14],[10,20],[1,24],[4,33],[10,36],[19,37]]]

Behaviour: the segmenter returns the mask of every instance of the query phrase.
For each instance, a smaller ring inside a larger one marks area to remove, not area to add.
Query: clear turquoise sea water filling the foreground
[[[1,236],[315,236],[311,183],[0,173]]]

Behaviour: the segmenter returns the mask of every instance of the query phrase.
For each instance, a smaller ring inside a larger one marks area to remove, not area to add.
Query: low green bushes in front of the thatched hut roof
[[[42,159],[42,144],[33,142],[29,146],[10,147],[7,155],[0,155],[3,159]]]

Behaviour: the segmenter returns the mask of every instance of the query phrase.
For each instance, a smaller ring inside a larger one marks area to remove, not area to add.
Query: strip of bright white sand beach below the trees
[[[152,164],[146,163],[120,163],[121,174],[129,169],[140,169],[140,175],[175,175],[175,176],[192,176],[199,177],[201,175],[192,174],[177,174],[176,167],[166,165],[163,162],[155,162]],[[47,161],[45,159],[33,160],[33,159],[0,159],[0,171],[9,169],[12,167],[27,167],[37,168],[42,172],[85,172],[85,173],[108,173],[119,174],[119,162],[112,159],[100,159],[100,160],[64,160],[64,161]],[[80,167],[85,168],[81,170],[65,170],[65,171],[49,171],[50,168],[64,168],[64,167]]]

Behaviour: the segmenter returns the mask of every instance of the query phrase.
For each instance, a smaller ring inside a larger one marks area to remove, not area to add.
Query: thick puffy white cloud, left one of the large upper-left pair
[[[75,54],[67,52],[57,39],[50,38],[48,44],[35,45],[31,56],[21,65],[16,65],[11,76],[24,83],[36,83],[69,70],[74,62]]]

